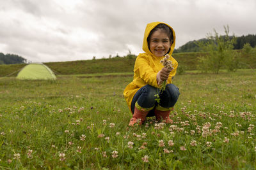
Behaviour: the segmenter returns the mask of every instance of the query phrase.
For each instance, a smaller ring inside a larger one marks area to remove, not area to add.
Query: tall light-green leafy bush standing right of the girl
[[[198,69],[204,72],[213,71],[218,74],[221,68],[228,71],[236,71],[238,67],[239,53],[234,51],[234,43],[236,43],[235,36],[228,36],[229,27],[224,26],[225,36],[219,36],[214,29],[214,36],[208,34],[206,43],[201,41],[198,46],[202,51],[208,54],[204,57],[199,57]]]

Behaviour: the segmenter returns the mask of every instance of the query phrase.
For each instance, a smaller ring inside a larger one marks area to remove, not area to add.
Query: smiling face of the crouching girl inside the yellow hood
[[[156,57],[164,56],[171,45],[168,35],[162,29],[157,29],[150,37],[149,49]]]

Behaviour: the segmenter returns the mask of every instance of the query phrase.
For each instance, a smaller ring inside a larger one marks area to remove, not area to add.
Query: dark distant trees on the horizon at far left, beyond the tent
[[[0,53],[0,64],[22,64],[26,63],[27,60],[19,55],[7,53]]]

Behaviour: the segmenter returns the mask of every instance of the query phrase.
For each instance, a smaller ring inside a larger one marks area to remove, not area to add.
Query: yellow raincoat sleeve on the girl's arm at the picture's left
[[[158,87],[156,75],[157,73],[150,67],[147,56],[138,56],[134,65],[134,73],[146,84]]]

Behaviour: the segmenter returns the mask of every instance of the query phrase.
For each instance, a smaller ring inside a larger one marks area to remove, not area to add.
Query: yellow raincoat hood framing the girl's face
[[[150,52],[150,50],[148,48],[147,38],[148,38],[148,35],[150,34],[150,31],[152,31],[152,29],[154,29],[154,27],[156,27],[158,24],[165,24],[165,23],[163,23],[163,22],[149,23],[149,24],[147,24],[147,27],[146,27],[145,33],[144,33],[142,49],[144,50],[144,52],[150,53],[151,55],[154,55],[154,54],[152,52]],[[165,25],[168,25],[168,24],[165,24]],[[173,52],[174,47],[175,47],[175,32],[174,32],[173,28],[170,25],[168,25],[168,27],[170,27],[170,29],[172,29],[172,34],[173,34],[173,43],[171,45],[170,52],[168,53],[169,55],[172,55],[172,52]]]

